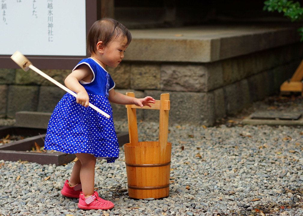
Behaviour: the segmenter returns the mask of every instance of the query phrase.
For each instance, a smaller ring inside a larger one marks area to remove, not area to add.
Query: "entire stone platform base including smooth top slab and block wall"
[[[209,126],[278,93],[303,58],[297,27],[290,25],[205,25],[131,33],[122,63],[106,68],[116,83],[115,91],[151,95],[156,100],[161,93],[170,93],[170,124]],[[43,71],[60,83],[71,72]],[[19,111],[52,113],[63,94],[33,71],[0,69],[0,117],[15,118]],[[127,120],[125,106],[112,107],[114,120]],[[137,118],[157,122],[158,113],[144,110]],[[37,123],[41,124],[39,119]]]

